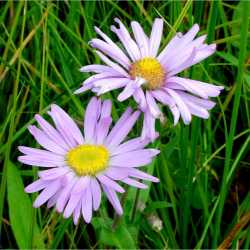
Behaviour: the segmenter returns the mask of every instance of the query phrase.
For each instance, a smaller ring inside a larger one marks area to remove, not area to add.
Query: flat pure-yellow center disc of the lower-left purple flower
[[[104,146],[79,145],[68,152],[66,160],[78,175],[95,175],[107,167],[109,152]]]

